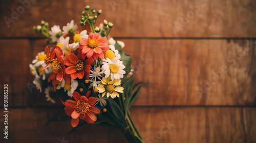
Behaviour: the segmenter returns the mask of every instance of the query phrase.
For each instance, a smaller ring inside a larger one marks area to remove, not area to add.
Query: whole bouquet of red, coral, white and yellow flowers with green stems
[[[48,101],[61,99],[72,127],[104,122],[121,129],[129,142],[144,142],[129,112],[141,88],[133,84],[131,56],[109,35],[113,23],[104,20],[95,27],[101,10],[85,10],[81,31],[74,20],[62,30],[56,25],[49,30],[45,21],[33,27],[49,44],[29,65],[33,83],[40,91],[45,88]]]

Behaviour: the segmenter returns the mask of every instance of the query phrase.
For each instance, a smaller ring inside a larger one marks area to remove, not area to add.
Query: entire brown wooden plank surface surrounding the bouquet
[[[111,35],[132,56],[136,82],[144,81],[131,116],[146,142],[256,142],[256,1],[206,1],[178,31],[174,23],[182,23],[182,14],[199,3],[35,1],[8,28],[4,17],[21,4],[1,1],[0,92],[8,84],[10,139],[1,136],[0,142],[60,142],[62,137],[124,142],[122,132],[109,126],[80,128],[71,135],[68,121],[44,126],[65,115],[63,105],[47,102],[44,92],[27,87],[33,81],[29,63],[46,46],[32,27],[41,19],[50,26],[62,27],[72,19],[78,23],[86,5],[102,9],[99,20],[114,23]],[[3,107],[3,94],[0,98]],[[173,126],[160,137],[163,122]]]

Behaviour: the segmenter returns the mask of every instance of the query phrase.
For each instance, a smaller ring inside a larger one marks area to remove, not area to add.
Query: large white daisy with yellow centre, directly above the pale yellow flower
[[[114,79],[121,79],[123,78],[123,74],[125,74],[125,71],[123,70],[125,66],[123,65],[123,62],[118,59],[118,57],[115,57],[113,59],[106,58],[103,59],[103,65],[101,67],[102,72],[105,74],[105,78],[108,78],[111,76],[111,80]]]

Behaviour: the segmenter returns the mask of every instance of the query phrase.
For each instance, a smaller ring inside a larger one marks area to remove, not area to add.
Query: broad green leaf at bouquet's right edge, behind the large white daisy
[[[121,55],[120,61],[123,61],[123,65],[125,66],[125,68],[123,69],[125,71],[125,74],[123,76],[126,77],[132,69],[132,58],[124,51],[119,51],[119,54]]]

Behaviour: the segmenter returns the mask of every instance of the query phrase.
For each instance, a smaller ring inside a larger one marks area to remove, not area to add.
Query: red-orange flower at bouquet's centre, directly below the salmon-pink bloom
[[[66,70],[66,74],[71,75],[72,79],[76,79],[77,77],[79,79],[82,79],[85,74],[87,79],[89,78],[93,59],[89,58],[84,61],[84,58],[85,57],[82,56],[81,54],[78,54],[78,56],[76,56],[73,53],[68,54],[66,58],[67,59],[66,65],[68,66]]]

